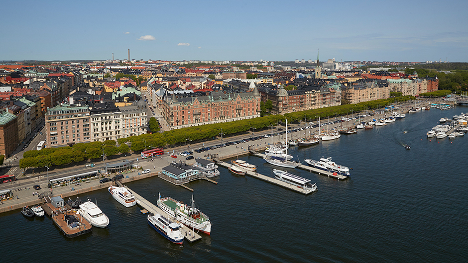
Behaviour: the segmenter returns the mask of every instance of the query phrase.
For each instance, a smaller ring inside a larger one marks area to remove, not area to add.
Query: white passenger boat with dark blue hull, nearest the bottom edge
[[[148,224],[159,234],[172,243],[184,244],[184,235],[180,231],[180,225],[170,221],[158,212],[148,214]]]

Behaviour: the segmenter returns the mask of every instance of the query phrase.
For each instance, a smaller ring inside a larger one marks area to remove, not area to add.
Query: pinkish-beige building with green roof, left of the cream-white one
[[[48,108],[45,115],[47,147],[90,142],[90,111],[88,106],[70,104]]]

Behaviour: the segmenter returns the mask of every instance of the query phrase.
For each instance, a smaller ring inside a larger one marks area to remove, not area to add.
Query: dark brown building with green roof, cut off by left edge
[[[10,157],[18,147],[17,117],[9,112],[0,111],[0,155]]]

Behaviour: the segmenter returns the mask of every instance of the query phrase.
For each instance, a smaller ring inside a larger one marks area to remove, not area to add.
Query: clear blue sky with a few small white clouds
[[[5,1],[1,60],[468,62],[466,0]]]

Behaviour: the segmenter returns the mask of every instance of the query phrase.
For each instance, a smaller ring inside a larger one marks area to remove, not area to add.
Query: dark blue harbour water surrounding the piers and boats
[[[65,238],[47,217],[27,219],[19,210],[0,214],[0,262],[465,263],[468,138],[438,143],[425,133],[441,117],[467,111],[463,106],[426,110],[336,141],[292,147],[288,153],[296,160],[331,156],[352,168],[345,181],[289,169],[317,182],[319,191],[307,196],[220,168],[218,185],[189,184],[196,205],[213,222],[212,235],[202,234],[194,244],[168,242],[146,223],[139,207],[123,207],[107,190],[81,196],[96,199],[111,221],[109,228],[93,228],[84,237]],[[273,176],[273,167],[263,160],[240,159]],[[128,186],[153,203],[158,192],[185,202],[192,196],[158,178]]]

